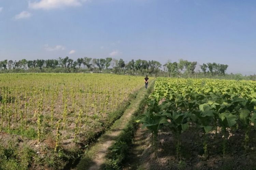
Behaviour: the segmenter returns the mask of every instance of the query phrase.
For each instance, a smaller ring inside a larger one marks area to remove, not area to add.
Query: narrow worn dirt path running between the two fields
[[[150,82],[148,84],[148,88],[150,88],[154,83]],[[118,135],[125,128],[126,123],[129,121],[131,115],[137,111],[141,101],[144,99],[145,95],[148,95],[146,90],[149,89],[140,89],[138,95],[134,101],[129,105],[129,107],[124,112],[123,116],[117,120],[112,128],[108,130],[104,135],[99,138],[98,143],[93,146],[90,151],[87,153],[88,155],[93,155],[91,159],[88,161],[88,158],[81,159],[77,169],[89,169],[89,170],[97,170],[100,169],[102,164],[105,161],[105,156],[108,153],[108,148],[112,146],[115,139],[117,139]],[[89,166],[88,166],[89,162]],[[83,166],[84,165],[84,166]]]

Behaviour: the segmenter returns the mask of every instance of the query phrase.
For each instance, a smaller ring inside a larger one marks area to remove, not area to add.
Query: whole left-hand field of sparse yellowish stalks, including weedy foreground
[[[1,74],[0,169],[62,169],[122,115],[142,77]]]

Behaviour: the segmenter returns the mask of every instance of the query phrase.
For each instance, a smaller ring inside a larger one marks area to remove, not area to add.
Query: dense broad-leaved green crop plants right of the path
[[[176,138],[181,157],[181,135],[191,126],[203,132],[204,157],[208,157],[208,133],[223,135],[223,155],[232,129],[244,132],[241,143],[248,151],[249,132],[256,125],[256,83],[210,79],[157,78],[146,114],[139,120],[153,133],[167,127]],[[221,132],[218,132],[221,129]]]

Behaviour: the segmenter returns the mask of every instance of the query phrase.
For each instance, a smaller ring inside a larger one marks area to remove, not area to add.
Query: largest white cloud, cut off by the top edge
[[[80,6],[85,1],[87,0],[40,0],[29,2],[28,6],[32,9],[51,10],[68,6]]]

